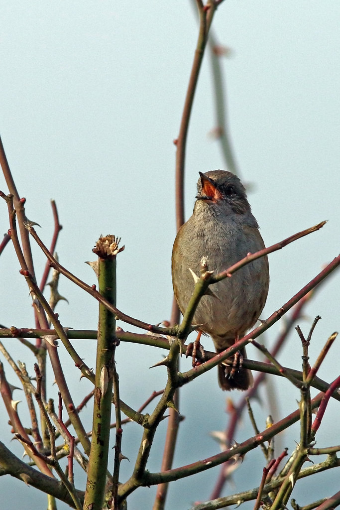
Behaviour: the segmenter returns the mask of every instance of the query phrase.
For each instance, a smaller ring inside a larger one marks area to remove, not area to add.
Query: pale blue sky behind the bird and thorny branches
[[[231,48],[230,58],[223,60],[229,128],[241,176],[253,184],[249,201],[266,244],[329,220],[322,231],[270,256],[271,287],[263,318],[280,308],[339,251],[339,17],[340,5],[329,0],[229,0],[219,7],[213,22],[220,43]],[[39,233],[48,245],[53,228],[49,200],[56,200],[64,226],[57,247],[60,261],[90,284],[94,274],[84,261],[93,259],[95,240],[101,233],[121,236],[126,249],[118,257],[118,306],[151,323],[170,316],[175,237],[172,141],[178,134],[196,35],[196,16],[191,2],[185,0],[34,0],[2,5],[0,132],[19,193],[27,198],[27,215],[41,224]],[[212,94],[210,62],[205,58],[187,147],[186,217],[192,212],[198,172],[225,168],[218,142],[207,136],[215,126]],[[0,188],[7,192],[2,176]],[[0,215],[6,232],[5,203]],[[43,257],[38,249],[34,252],[40,274]],[[0,260],[1,322],[33,326],[28,289],[18,269],[13,250],[7,247]],[[307,332],[312,319],[322,316],[310,347],[311,362],[340,327],[339,284],[337,273],[300,321]],[[13,288],[14,292],[6,292]],[[63,278],[60,291],[69,300],[58,305],[63,325],[95,329],[96,303]],[[267,334],[269,345],[279,329],[277,324]],[[6,345],[15,359],[21,356],[13,340]],[[209,339],[203,345],[212,348]],[[79,342],[76,347],[92,366],[94,343]],[[332,352],[320,372],[328,380],[337,375],[332,359],[338,357],[338,342]],[[248,353],[257,355],[251,348]],[[280,361],[299,368],[300,356],[299,340],[293,334]],[[161,353],[154,348],[119,347],[121,394],[132,406],[138,407],[153,390],[164,387],[165,370],[148,369],[160,359]],[[66,356],[65,364],[70,380],[77,378]],[[184,369],[189,366],[189,361],[182,362]],[[9,367],[6,374],[16,384]],[[52,381],[50,375],[48,388],[55,398]],[[75,389],[75,401],[81,400],[86,385],[82,381]],[[283,395],[278,419],[295,409],[299,394],[286,382],[280,386],[275,382],[275,386],[282,387]],[[224,428],[225,397],[213,371],[182,390],[181,412],[186,420],[181,424],[175,466],[217,452],[208,431]],[[255,404],[255,411],[263,428],[268,410]],[[195,429],[196,420],[199,429]],[[327,426],[320,447],[338,444],[338,431],[328,417],[325,430]],[[134,441],[141,435],[137,426],[128,427],[123,453],[130,464],[122,465],[122,481],[133,469]],[[6,417],[4,428],[8,445]],[[160,469],[163,431],[150,458],[152,470]],[[247,433],[251,432],[245,420],[236,439],[245,439]],[[281,446],[292,451],[298,427],[295,434],[282,437]],[[258,459],[262,466],[260,453],[248,455],[241,468],[246,476],[255,471],[254,487],[260,480],[261,468],[255,469]],[[215,469],[183,480],[177,490],[174,483],[168,507],[185,510],[193,501],[208,498],[217,474]],[[243,490],[237,476],[235,481],[236,490]],[[301,487],[296,497],[305,504],[309,499],[302,494],[307,485]],[[16,497],[22,491],[27,510],[45,504],[43,495],[35,500],[33,489],[9,477],[0,479],[0,490],[3,494],[15,491]],[[325,489],[325,494],[331,490]],[[309,496],[318,497],[311,491]],[[154,488],[144,489],[132,497],[129,508],[150,508],[153,497]]]

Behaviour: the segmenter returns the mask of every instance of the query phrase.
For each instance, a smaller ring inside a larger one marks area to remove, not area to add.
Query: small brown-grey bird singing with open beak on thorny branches
[[[216,274],[248,253],[265,248],[239,177],[226,170],[199,175],[193,214],[179,228],[172,249],[172,285],[183,315],[200,274],[202,258],[208,270]],[[267,256],[250,262],[210,289],[197,306],[193,324],[211,336],[219,353],[246,334],[265,306],[269,289]],[[242,368],[244,348],[238,357],[238,370],[235,366],[218,365],[222,390],[247,390],[253,384],[251,371]]]

